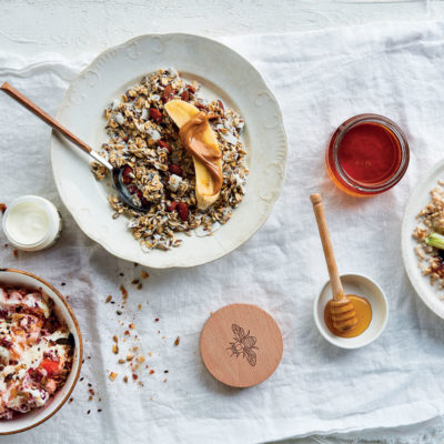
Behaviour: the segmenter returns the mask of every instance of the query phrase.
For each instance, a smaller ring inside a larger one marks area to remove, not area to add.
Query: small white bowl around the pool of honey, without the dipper
[[[372,305],[372,321],[367,330],[356,337],[336,336],[329,330],[324,321],[324,310],[332,299],[330,281],[324,284],[320,294],[314,299],[314,322],[320,333],[333,345],[341,349],[360,349],[376,340],[385,329],[389,320],[389,302],[380,285],[363,274],[343,274],[341,282],[345,294],[365,297]]]

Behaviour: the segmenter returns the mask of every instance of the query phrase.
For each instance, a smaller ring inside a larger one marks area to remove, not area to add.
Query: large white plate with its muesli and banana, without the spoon
[[[113,169],[88,168],[53,134],[63,203],[92,240],[145,266],[232,252],[266,221],[284,183],[276,99],[252,64],[206,38],[148,34],[104,51],[72,81],[57,118]]]

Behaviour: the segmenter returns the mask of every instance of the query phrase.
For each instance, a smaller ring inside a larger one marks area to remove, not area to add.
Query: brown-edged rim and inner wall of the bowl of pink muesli
[[[54,303],[53,311],[58,319],[64,321],[73,336],[72,366],[64,382],[48,402],[29,413],[14,416],[11,420],[0,420],[0,435],[24,432],[40,425],[54,415],[67,402],[80,375],[82,366],[83,345],[77,319],[65,299],[51,284],[32,273],[13,269],[0,269],[0,284],[41,289]]]

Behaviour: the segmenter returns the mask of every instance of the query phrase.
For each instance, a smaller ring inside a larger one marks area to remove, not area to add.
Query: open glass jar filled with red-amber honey
[[[407,140],[400,127],[379,114],[342,123],[325,152],[329,175],[349,194],[365,198],[394,186],[408,167]]]

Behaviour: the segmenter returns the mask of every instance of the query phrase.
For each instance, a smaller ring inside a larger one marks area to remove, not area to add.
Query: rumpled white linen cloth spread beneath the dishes
[[[141,291],[130,283],[141,268],[91,242],[61,204],[50,167],[50,130],[0,94],[0,201],[40,194],[64,219],[53,248],[18,259],[3,248],[1,233],[0,266],[31,271],[70,295],[90,356],[72,403],[38,428],[2,442],[256,443],[376,427],[366,436],[417,442],[414,434],[386,436],[383,427],[433,418],[427,436],[441,435],[444,322],[410,285],[400,233],[412,186],[443,155],[444,24],[384,23],[222,41],[262,72],[281,103],[290,150],[285,188],[269,221],[245,245],[203,266],[149,270]],[[56,113],[70,80],[91,57],[22,60],[0,49],[0,81]],[[323,158],[331,132],[362,112],[393,119],[411,144],[402,182],[367,200],[339,191]],[[333,347],[313,323],[312,301],[327,278],[309,200],[315,191],[324,196],[341,271],[369,274],[390,301],[384,334],[362,350]],[[118,316],[117,306],[104,300],[112,294],[120,301],[121,284],[130,295]],[[199,355],[199,334],[210,312],[233,302],[265,309],[284,337],[275,374],[249,390],[218,383]],[[131,374],[111,351],[112,335],[122,336],[132,320],[155,371],[141,377],[143,387],[122,382],[124,373],[130,380]],[[118,372],[118,379],[111,382],[107,371]],[[95,392],[92,401],[88,383]]]

